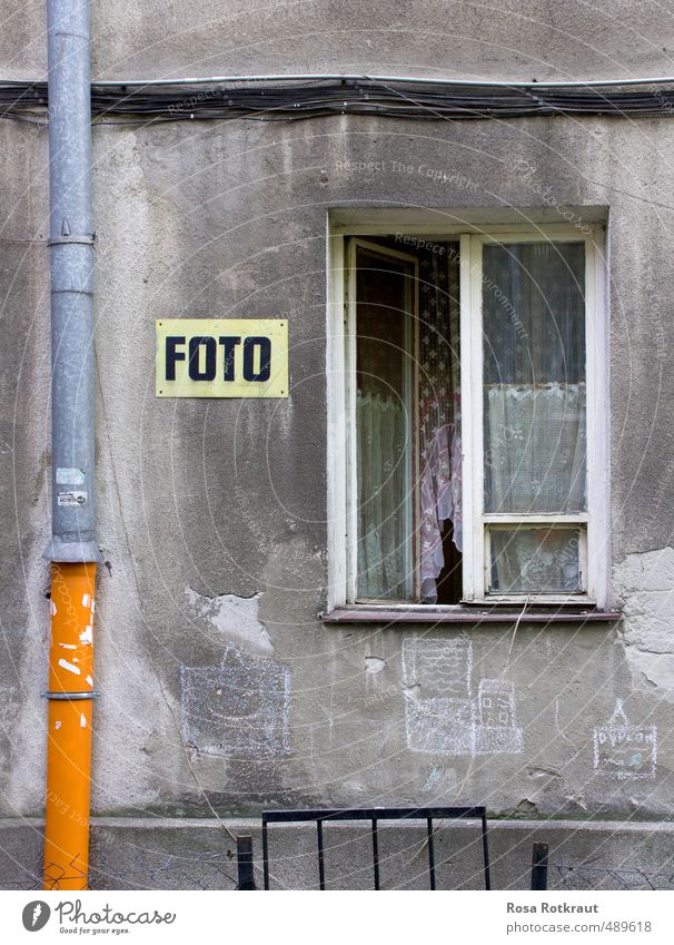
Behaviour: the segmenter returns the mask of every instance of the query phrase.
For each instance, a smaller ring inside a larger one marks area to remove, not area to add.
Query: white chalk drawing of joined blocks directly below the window
[[[473,644],[467,640],[410,639],[403,643],[407,746],[434,755],[517,754],[515,688],[483,679],[472,688]],[[418,686],[420,693],[414,691]]]

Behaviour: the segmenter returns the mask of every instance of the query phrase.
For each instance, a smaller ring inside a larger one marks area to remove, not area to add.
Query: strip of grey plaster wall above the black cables
[[[41,0],[3,14],[2,75],[46,69]],[[672,71],[657,3],[601,0],[92,0],[93,76],[366,71],[463,78],[613,78]]]

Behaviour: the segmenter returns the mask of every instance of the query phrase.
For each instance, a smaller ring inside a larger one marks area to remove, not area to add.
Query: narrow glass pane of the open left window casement
[[[409,600],[414,267],[358,247],[356,441],[361,598]]]

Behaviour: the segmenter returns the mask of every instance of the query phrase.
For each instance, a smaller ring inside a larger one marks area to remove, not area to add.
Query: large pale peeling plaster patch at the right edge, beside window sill
[[[656,686],[674,703],[674,549],[628,554],[614,568],[613,583],[634,687]]]

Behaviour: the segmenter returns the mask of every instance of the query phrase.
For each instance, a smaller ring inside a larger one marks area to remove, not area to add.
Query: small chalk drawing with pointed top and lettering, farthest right
[[[657,728],[635,726],[616,699],[608,721],[593,730],[594,767],[597,775],[618,781],[655,777],[657,760]]]

